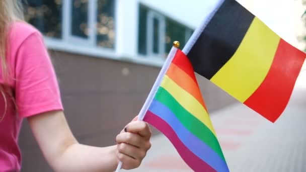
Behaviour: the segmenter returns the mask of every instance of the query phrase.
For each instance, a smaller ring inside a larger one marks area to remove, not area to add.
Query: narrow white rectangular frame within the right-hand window
[[[159,21],[159,39],[158,39],[158,45],[159,45],[159,52],[155,53],[153,51],[153,41],[154,41],[154,19],[157,19]],[[165,53],[165,34],[166,34],[166,27],[165,27],[165,17],[159,13],[156,13],[152,10],[148,11],[147,14],[147,20],[146,20],[146,55],[149,57],[154,58],[164,58],[163,55]]]

